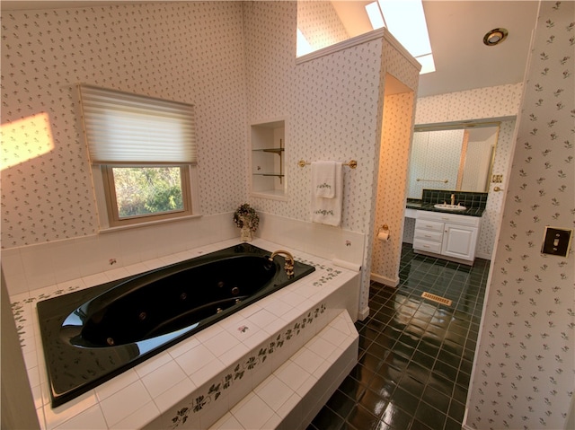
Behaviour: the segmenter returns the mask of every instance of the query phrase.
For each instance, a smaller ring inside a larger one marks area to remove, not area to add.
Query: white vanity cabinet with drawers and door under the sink
[[[418,211],[413,250],[473,263],[480,227],[478,216]]]

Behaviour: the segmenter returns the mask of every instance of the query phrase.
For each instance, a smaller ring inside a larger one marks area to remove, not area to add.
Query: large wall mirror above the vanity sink
[[[408,198],[423,189],[488,192],[498,123],[415,127]]]

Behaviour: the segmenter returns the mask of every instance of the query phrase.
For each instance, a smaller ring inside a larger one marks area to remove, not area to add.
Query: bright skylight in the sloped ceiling
[[[374,30],[387,27],[421,64],[420,75],[435,72],[428,25],[421,0],[377,0],[366,5]]]

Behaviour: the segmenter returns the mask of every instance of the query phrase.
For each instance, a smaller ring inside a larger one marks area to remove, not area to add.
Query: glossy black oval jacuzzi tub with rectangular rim
[[[314,271],[249,243],[38,303],[52,407]]]

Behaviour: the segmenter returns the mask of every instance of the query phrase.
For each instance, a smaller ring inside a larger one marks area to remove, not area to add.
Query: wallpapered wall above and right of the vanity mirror
[[[487,206],[482,216],[482,228],[477,243],[477,257],[491,259],[495,236],[503,207],[503,193],[493,191],[495,185],[507,188],[510,160],[515,136],[516,119],[523,83],[450,92],[417,100],[415,124],[437,124],[466,120],[498,120],[500,134],[495,148],[493,174],[503,176],[500,184],[490,184]],[[407,224],[412,229],[412,224]]]

